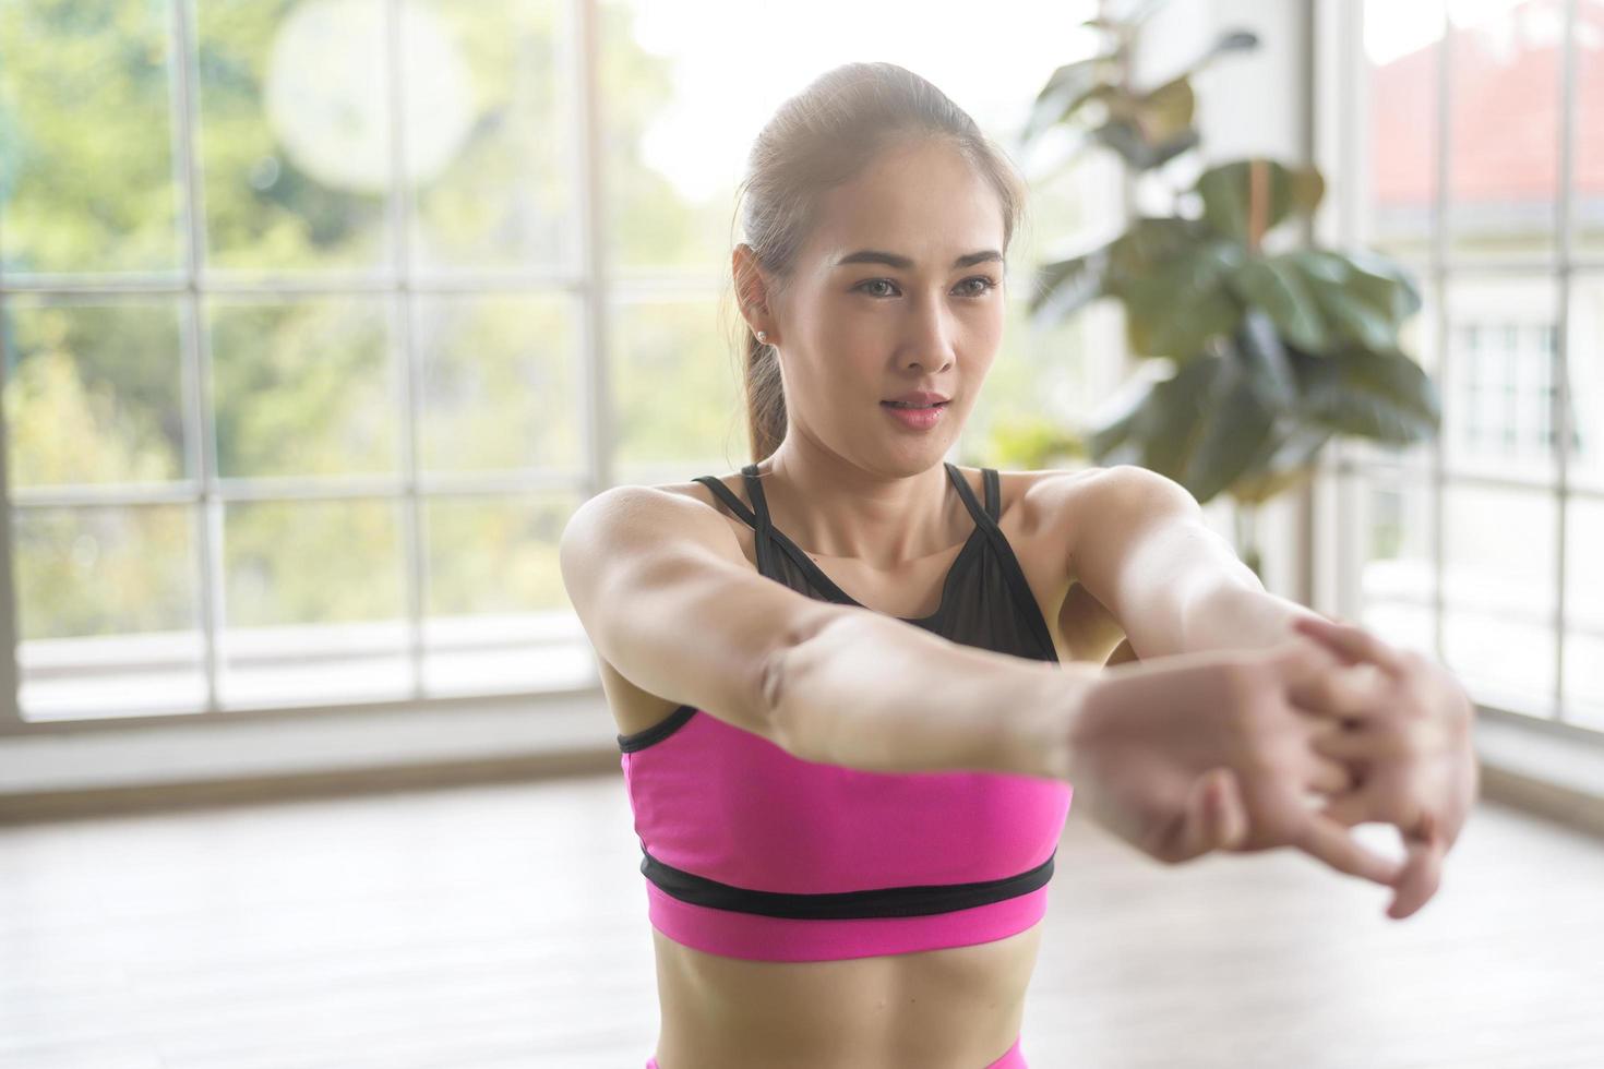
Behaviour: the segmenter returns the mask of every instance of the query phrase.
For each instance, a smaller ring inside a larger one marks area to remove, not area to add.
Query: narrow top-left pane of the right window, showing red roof
[[[1365,0],[1370,239],[1379,250],[1412,260],[1431,252],[1442,27],[1440,0]]]

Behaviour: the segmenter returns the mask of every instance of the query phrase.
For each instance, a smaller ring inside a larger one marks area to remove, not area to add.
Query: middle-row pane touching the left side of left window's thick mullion
[[[425,470],[579,468],[574,311],[566,295],[414,301]]]

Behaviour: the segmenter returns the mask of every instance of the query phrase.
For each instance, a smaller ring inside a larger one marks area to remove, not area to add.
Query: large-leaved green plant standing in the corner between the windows
[[[1089,22],[1100,46],[1052,74],[1022,147],[1062,127],[1081,146],[1118,152],[1134,176],[1198,147],[1190,77],[1258,40],[1224,34],[1187,72],[1134,88],[1136,29],[1160,3]],[[1152,468],[1198,502],[1229,494],[1243,506],[1238,551],[1254,572],[1258,506],[1307,479],[1331,436],[1402,447],[1440,426],[1434,383],[1399,348],[1399,329],[1421,306],[1408,272],[1368,250],[1266,247],[1323,192],[1309,167],[1209,167],[1173,191],[1169,215],[1137,215],[1110,244],[1039,266],[1030,298],[1043,327],[1097,298],[1123,305],[1131,354],[1173,373],[1121,391],[1081,433],[1086,452],[1099,465]]]

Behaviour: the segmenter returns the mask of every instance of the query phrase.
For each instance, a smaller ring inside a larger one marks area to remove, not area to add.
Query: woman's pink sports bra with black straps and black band
[[[929,617],[943,638],[1057,662],[1046,620],[985,508],[946,473],[975,529]],[[749,510],[701,476],[757,532],[759,572],[812,598],[858,604],[768,521],[757,465]],[[873,773],[804,761],[691,705],[618,737],[640,837],[651,925],[698,950],[768,962],[909,954],[1003,939],[1041,920],[1068,816],[1062,781],[998,773]]]

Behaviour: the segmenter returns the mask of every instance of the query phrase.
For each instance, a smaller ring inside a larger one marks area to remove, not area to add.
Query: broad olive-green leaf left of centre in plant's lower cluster
[[[1153,272],[1118,280],[1115,293],[1124,301],[1131,349],[1184,361],[1201,353],[1209,340],[1235,330],[1241,305],[1225,280],[1243,256],[1240,245],[1213,240]]]

